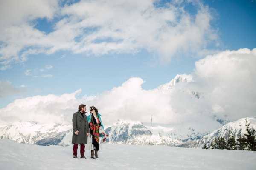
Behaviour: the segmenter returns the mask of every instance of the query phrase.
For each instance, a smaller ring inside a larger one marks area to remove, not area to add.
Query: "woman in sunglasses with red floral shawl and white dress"
[[[105,133],[102,133],[104,126],[102,124],[101,115],[98,113],[98,109],[94,106],[90,107],[90,115],[87,116],[87,120],[90,128],[90,135],[88,136],[87,149],[91,150],[91,158],[98,158],[99,150],[99,137],[104,137]],[[104,130],[103,130],[104,131]],[[95,157],[94,157],[95,154]]]

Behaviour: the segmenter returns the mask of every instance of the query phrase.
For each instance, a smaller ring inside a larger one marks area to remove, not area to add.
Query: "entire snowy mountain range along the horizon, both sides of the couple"
[[[209,146],[215,137],[221,136],[227,139],[230,135],[237,139],[245,131],[245,119],[223,125],[212,133],[195,133],[188,130],[187,137],[181,136],[175,131],[167,134],[152,134],[141,122],[118,120],[111,127],[105,129],[109,134],[106,142],[116,144],[137,144],[137,145],[167,145],[179,147],[203,147]],[[248,117],[250,126],[256,128],[256,118]],[[72,125],[49,124],[39,125],[36,122],[16,122],[12,125],[0,127],[1,139],[12,139],[19,143],[38,145],[63,145],[71,144]]]

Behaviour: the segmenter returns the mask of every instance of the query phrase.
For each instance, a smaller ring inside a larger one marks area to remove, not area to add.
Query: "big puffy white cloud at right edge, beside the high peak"
[[[196,90],[203,89],[213,112],[232,120],[255,116],[256,48],[223,51],[195,62]]]

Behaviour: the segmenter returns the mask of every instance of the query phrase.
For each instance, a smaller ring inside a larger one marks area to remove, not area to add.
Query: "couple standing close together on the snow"
[[[91,150],[91,158],[98,158],[99,137],[105,139],[104,126],[102,124],[101,115],[94,106],[90,107],[90,115],[86,116],[86,105],[79,105],[78,111],[73,114],[73,158],[77,158],[78,144],[80,144],[80,158],[84,156],[84,148],[87,144],[87,150]],[[94,157],[95,155],[95,157]]]

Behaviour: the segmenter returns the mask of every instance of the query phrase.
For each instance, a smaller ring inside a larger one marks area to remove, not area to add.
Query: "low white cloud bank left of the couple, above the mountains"
[[[40,123],[64,123],[77,110],[79,102],[75,95],[80,92],[81,90],[61,96],[49,94],[16,99],[5,108],[0,109],[1,120],[3,122],[34,120]]]

